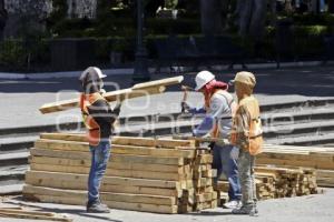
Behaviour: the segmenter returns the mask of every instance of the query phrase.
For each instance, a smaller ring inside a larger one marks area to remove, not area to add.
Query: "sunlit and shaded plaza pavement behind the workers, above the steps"
[[[262,104],[306,101],[312,98],[325,99],[334,95],[334,67],[307,67],[281,70],[252,70],[257,77],[256,93]],[[214,72],[218,80],[230,80],[235,71]],[[194,85],[196,73],[186,73],[185,84]],[[173,74],[153,74],[153,79],[175,77]],[[114,90],[111,84],[120,89],[131,84],[131,75],[118,74],[107,78],[106,90]],[[69,110],[52,114],[40,114],[38,108],[59,98],[78,97],[80,85],[77,78],[48,80],[0,80],[0,129],[56,124],[81,120],[79,110]],[[134,99],[124,104],[121,115],[145,115],[179,111],[181,92],[179,85],[168,88],[168,93],[154,95],[149,100]],[[191,93],[189,102],[202,104],[202,95]]]

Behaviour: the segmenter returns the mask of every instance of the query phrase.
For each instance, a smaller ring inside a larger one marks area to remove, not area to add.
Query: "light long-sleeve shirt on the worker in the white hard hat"
[[[210,99],[210,105],[206,111],[204,120],[193,131],[193,134],[195,137],[204,137],[213,130],[215,124],[218,124],[220,138],[228,138],[232,128],[230,101],[233,101],[233,97],[229,93],[216,92]],[[203,109],[198,111],[203,111]]]

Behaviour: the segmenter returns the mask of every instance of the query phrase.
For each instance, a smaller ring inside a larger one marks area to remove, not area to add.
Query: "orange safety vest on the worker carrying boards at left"
[[[100,143],[100,125],[89,114],[88,108],[98,100],[106,100],[99,92],[80,95],[80,108],[84,123],[88,130],[87,138],[90,145],[98,145]]]

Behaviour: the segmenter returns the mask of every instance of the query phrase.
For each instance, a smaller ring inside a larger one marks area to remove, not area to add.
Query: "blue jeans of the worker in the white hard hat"
[[[233,145],[214,147],[213,169],[217,170],[217,178],[214,179],[214,182],[217,184],[222,173],[224,173],[229,183],[229,201],[239,201],[242,199],[242,189],[238,175],[238,165],[237,161],[233,160],[229,155],[232,149]]]

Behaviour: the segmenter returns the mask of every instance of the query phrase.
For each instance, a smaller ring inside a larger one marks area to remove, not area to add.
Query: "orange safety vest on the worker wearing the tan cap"
[[[246,151],[248,151],[252,155],[256,155],[263,152],[262,150],[263,130],[262,130],[262,123],[259,118],[259,105],[257,100],[252,95],[243,99],[238,104],[238,109],[240,107],[244,107],[250,115],[249,133],[248,133],[249,144],[247,145]],[[232,144],[236,144],[237,137],[238,137],[238,132],[236,131],[237,127],[235,124],[236,121],[234,120],[234,127],[230,133]]]

